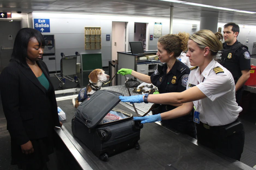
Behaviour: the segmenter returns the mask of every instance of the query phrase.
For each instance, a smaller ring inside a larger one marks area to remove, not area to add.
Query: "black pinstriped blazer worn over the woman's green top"
[[[43,61],[37,61],[37,64],[49,81],[48,91],[29,67],[25,68],[16,61],[11,61],[0,75],[7,130],[12,142],[18,145],[47,137],[54,126],[60,126],[49,70]]]

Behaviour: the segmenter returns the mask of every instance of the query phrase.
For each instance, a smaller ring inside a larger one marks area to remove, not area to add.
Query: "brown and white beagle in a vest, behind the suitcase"
[[[89,74],[89,84],[86,86],[86,94],[89,97],[90,95],[94,94],[96,91],[101,89],[101,86],[104,81],[109,80],[109,75],[105,74],[105,71],[102,69],[95,69]],[[84,94],[85,88],[81,89],[77,98],[73,95],[73,105],[74,107],[78,107],[79,104],[82,103],[83,100],[87,98]],[[83,100],[82,100],[83,99]]]

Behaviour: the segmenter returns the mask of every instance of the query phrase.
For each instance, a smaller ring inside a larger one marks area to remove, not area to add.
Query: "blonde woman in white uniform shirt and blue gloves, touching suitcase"
[[[120,96],[123,102],[180,104],[176,109],[158,115],[134,117],[141,123],[173,119],[190,112],[193,105],[197,141],[231,158],[240,160],[244,145],[244,130],[238,115],[235,83],[232,74],[213,57],[222,48],[210,30],[200,30],[189,36],[188,53],[191,70],[187,90],[180,93]]]

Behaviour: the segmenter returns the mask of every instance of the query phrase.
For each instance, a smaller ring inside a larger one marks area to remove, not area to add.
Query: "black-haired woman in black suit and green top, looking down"
[[[53,85],[40,60],[45,41],[32,28],[15,38],[10,64],[0,75],[0,91],[11,136],[11,164],[19,169],[44,169],[53,153],[52,133],[59,122]]]

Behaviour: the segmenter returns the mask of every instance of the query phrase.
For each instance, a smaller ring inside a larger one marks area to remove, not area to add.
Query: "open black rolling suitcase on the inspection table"
[[[118,104],[119,95],[123,94],[96,91],[77,107],[72,119],[74,137],[102,160],[131,148],[140,148],[138,140],[143,124],[134,121],[131,113],[115,108],[121,105]]]

